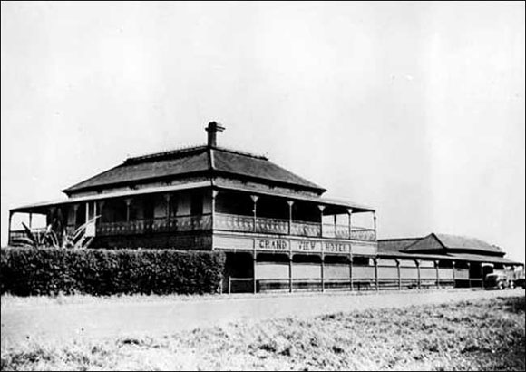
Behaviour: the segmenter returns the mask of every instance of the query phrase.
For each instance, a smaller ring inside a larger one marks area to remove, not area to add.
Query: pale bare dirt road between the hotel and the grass
[[[227,295],[205,299],[161,299],[155,302],[101,299],[85,304],[16,304],[2,309],[2,348],[30,340],[46,342],[72,338],[162,336],[183,329],[213,327],[232,321],[265,318],[314,317],[366,308],[404,307],[523,295],[524,289],[470,289],[391,293],[308,293]]]

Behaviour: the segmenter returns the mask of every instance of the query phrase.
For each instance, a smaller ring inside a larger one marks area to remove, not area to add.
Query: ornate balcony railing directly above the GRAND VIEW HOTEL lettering
[[[254,228],[254,221],[256,223],[256,228]],[[287,235],[288,220],[269,219],[265,217],[257,217],[254,220],[254,217],[252,216],[216,213],[214,215],[214,229]],[[293,220],[290,224],[290,235],[368,241],[375,240],[374,229],[353,227],[349,236],[348,225],[324,224],[322,234],[322,226],[320,223],[297,220]]]

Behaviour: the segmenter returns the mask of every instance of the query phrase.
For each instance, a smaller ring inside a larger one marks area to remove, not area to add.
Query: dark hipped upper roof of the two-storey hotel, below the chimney
[[[211,171],[287,184],[321,194],[325,189],[297,176],[291,171],[268,161],[264,156],[237,152],[220,147],[197,146],[172,152],[159,152],[129,158],[122,164],[65,190],[66,194],[78,191],[134,182],[184,177],[196,173],[210,175]]]

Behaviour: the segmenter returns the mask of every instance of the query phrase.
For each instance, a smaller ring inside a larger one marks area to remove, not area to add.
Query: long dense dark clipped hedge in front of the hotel
[[[0,293],[213,293],[224,265],[224,253],[217,251],[7,247],[1,250]]]

